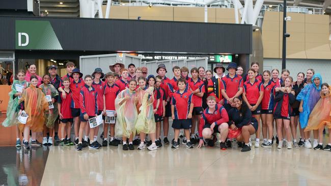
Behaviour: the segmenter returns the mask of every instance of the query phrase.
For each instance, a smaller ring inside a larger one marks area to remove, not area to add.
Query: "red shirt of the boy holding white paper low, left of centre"
[[[89,90],[88,85],[82,87],[79,96],[80,112],[89,116],[98,114],[97,98],[98,92],[93,87],[91,90]]]

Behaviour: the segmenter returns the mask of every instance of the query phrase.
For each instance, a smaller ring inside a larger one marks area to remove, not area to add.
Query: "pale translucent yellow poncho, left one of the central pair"
[[[130,97],[130,100],[119,105],[126,97]],[[118,137],[125,136],[128,138],[131,134],[135,135],[134,125],[138,116],[134,103],[135,98],[136,92],[130,92],[130,90],[126,88],[122,90],[115,99],[115,109],[117,113],[115,134]]]

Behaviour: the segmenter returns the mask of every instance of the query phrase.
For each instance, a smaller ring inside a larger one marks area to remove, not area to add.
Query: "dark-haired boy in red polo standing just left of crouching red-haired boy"
[[[192,112],[192,128],[190,141],[192,144],[196,144],[198,139],[195,138],[196,126],[197,129],[200,125],[200,117],[203,112],[202,97],[205,94],[205,84],[199,78],[199,70],[195,67],[191,69],[192,78],[188,80],[188,87],[193,94],[193,112]]]

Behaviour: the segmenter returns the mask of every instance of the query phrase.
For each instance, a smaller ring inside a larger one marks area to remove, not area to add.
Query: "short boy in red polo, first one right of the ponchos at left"
[[[61,135],[61,145],[73,145],[70,139],[71,124],[73,123],[73,117],[71,115],[70,104],[72,101],[72,92],[69,88],[70,80],[67,77],[63,78],[63,90],[65,91],[66,97],[62,97],[62,92],[58,97],[58,107],[60,115],[60,135]],[[64,132],[67,133],[67,138],[65,138]]]

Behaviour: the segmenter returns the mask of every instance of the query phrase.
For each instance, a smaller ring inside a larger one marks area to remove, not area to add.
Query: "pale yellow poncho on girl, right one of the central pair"
[[[141,88],[137,90],[140,103],[140,113],[138,115],[137,122],[135,123],[135,129],[138,133],[155,133],[155,119],[153,112],[154,96],[150,96],[149,92],[153,92],[153,87],[150,87],[146,90]]]

